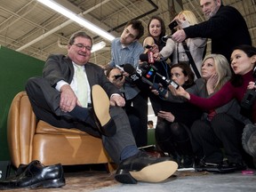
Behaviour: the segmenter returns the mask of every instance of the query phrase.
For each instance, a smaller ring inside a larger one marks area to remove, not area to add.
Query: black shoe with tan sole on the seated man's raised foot
[[[92,108],[97,120],[100,122],[100,132],[108,137],[116,134],[116,124],[109,114],[109,99],[107,93],[99,84],[92,86]]]

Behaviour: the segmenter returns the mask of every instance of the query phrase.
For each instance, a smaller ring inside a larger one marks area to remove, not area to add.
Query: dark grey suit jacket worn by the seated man
[[[121,92],[108,81],[103,68],[91,62],[86,63],[84,67],[91,89],[93,84],[100,84],[109,97],[113,93],[121,94]],[[60,80],[64,80],[70,84],[74,76],[72,60],[62,54],[49,56],[44,65],[43,76],[50,82],[52,87],[55,87]]]

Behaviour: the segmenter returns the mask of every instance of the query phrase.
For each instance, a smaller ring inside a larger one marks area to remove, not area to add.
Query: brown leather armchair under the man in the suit
[[[100,139],[75,128],[36,121],[26,92],[19,92],[12,100],[7,138],[15,167],[39,160],[44,165],[106,164],[108,171],[113,171]]]

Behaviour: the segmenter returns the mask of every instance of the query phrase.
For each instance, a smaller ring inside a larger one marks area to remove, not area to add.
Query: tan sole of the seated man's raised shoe
[[[108,124],[111,116],[109,114],[110,102],[107,93],[99,84],[92,86],[92,105],[94,113],[100,121],[100,125]]]

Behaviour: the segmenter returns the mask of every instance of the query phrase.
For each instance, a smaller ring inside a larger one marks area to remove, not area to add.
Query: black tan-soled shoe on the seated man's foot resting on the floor
[[[170,157],[149,156],[140,151],[119,164],[115,179],[126,184],[136,184],[138,180],[146,182],[166,180],[178,168],[178,164],[170,159]]]

